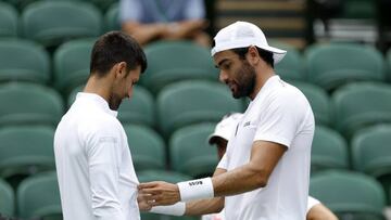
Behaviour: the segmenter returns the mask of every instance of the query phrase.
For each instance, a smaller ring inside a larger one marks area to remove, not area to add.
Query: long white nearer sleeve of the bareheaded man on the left
[[[99,220],[125,220],[118,198],[119,137],[106,126],[87,141],[92,213]]]

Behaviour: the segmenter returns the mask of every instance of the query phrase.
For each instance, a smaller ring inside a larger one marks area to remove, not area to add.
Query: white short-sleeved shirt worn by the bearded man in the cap
[[[254,141],[288,148],[265,187],[225,197],[227,220],[305,219],[314,128],[304,94],[278,76],[270,77],[239,121],[218,167],[229,171],[248,164]]]

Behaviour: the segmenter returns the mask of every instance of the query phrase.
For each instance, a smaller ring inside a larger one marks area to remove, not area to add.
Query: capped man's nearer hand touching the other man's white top
[[[167,206],[180,200],[178,185],[163,181],[140,183],[138,192],[151,206]]]

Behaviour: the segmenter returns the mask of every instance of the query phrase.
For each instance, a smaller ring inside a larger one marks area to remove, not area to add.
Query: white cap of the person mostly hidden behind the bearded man
[[[224,116],[216,125],[214,132],[209,137],[209,143],[213,144],[216,138],[228,140],[242,116],[243,114],[241,113],[232,113]]]

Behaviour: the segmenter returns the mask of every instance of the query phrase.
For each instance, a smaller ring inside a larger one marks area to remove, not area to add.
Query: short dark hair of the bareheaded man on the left
[[[122,31],[110,31],[102,35],[91,51],[90,74],[104,76],[115,64],[126,62],[127,72],[141,66],[147,68],[147,57],[141,46]]]

